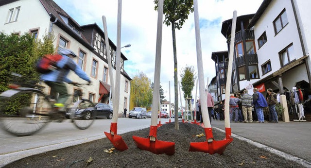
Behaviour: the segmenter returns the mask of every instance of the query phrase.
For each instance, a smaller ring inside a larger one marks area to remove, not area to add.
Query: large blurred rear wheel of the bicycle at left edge
[[[25,91],[9,97],[1,95],[0,127],[7,133],[17,136],[35,134],[50,121],[51,104],[43,94]]]

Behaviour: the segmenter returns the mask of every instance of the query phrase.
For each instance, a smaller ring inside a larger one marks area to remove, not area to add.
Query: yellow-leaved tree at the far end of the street
[[[152,103],[152,88],[150,79],[139,72],[131,81],[131,101],[136,107],[149,107]]]

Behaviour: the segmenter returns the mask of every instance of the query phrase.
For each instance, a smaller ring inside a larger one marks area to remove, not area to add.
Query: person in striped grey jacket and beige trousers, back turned
[[[253,115],[252,115],[252,95],[248,94],[248,90],[244,90],[244,94],[241,97],[242,101],[242,111],[244,116],[244,121],[247,123],[247,117],[249,117],[249,122],[253,122]],[[248,114],[248,116],[247,116]]]

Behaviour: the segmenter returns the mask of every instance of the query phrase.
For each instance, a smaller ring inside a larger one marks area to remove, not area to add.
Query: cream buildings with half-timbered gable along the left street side
[[[36,38],[52,32],[56,40],[54,47],[73,50],[78,57],[76,63],[90,76],[92,85],[83,90],[84,95],[93,102],[109,102],[110,80],[113,73],[116,80],[116,46],[109,40],[113,72],[108,71],[108,60],[104,43],[104,32],[99,26],[89,24],[80,26],[53,0],[6,0],[0,2],[0,31],[5,34],[23,34],[29,32]],[[102,17],[102,16],[98,16]],[[129,109],[131,78],[124,71],[124,61],[127,58],[121,53],[121,79],[119,113]],[[69,79],[83,83],[77,75],[70,72]],[[69,85],[69,94],[76,88]],[[57,96],[48,86],[45,90]],[[112,95],[113,97],[114,95]],[[72,100],[71,100],[72,101]]]

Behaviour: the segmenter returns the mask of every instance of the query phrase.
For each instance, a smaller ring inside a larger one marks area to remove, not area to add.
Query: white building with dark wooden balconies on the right
[[[280,95],[302,93],[298,102],[287,99],[291,119],[297,119],[293,104],[304,104],[311,95],[311,60],[308,11],[301,0],[263,0],[255,14],[237,17],[231,92],[242,92],[250,83],[266,96],[272,88]],[[223,22],[222,34],[230,45],[232,19]],[[218,100],[223,100],[228,52],[213,52]],[[225,61],[225,63],[223,63]],[[224,74],[223,74],[224,73]],[[302,113],[302,111],[300,112]],[[310,120],[310,111],[303,112]],[[291,116],[291,114],[293,114]]]

